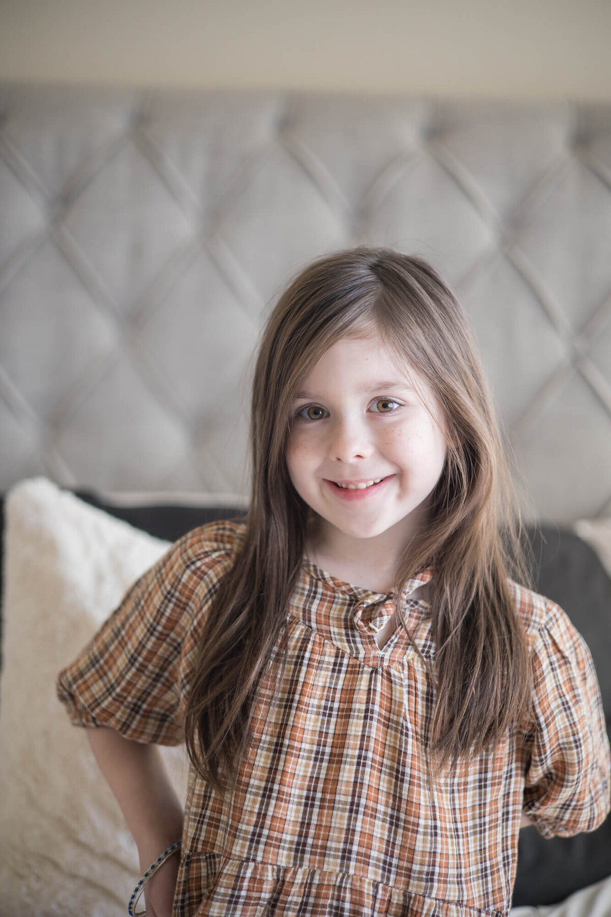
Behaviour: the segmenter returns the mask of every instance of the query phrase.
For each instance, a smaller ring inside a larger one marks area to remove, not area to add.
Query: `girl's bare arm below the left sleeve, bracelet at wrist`
[[[143,873],[182,834],[184,812],[158,746],[134,742],[104,727],[87,729],[86,733],[136,841]],[[179,862],[178,854],[170,856],[147,885],[145,900],[153,917],[171,913]]]

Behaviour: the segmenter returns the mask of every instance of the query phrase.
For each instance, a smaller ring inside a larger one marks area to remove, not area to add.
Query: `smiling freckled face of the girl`
[[[375,329],[342,338],[303,381],[291,406],[287,465],[296,491],[321,517],[327,545],[336,530],[371,538],[394,527],[393,544],[402,549],[426,525],[424,502],[442,474],[446,443],[440,406],[418,381],[424,399]],[[338,486],[379,478],[365,489]]]

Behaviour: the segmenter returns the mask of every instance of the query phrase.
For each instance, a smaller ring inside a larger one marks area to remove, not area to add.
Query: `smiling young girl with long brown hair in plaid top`
[[[180,538],[59,677],[74,724],[110,727],[88,735],[147,914],[507,914],[520,823],[600,824],[609,745],[583,638],[529,589],[483,370],[425,261],[300,273],[251,448],[245,519]],[[155,746],[183,741],[184,812]]]

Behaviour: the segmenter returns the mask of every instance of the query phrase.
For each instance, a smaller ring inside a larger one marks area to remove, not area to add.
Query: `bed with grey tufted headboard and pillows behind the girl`
[[[171,541],[244,512],[257,337],[326,251],[419,253],[463,302],[608,727],[611,105],[5,84],[0,113],[5,917],[125,912],[135,847],[52,679]],[[609,877],[609,819],[525,828],[515,915],[609,914]]]

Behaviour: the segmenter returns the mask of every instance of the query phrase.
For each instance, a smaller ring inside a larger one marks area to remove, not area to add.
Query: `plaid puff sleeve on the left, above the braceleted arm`
[[[110,726],[137,742],[184,741],[182,699],[205,611],[235,559],[230,523],[179,539],[125,593],[56,683],[79,726]]]

